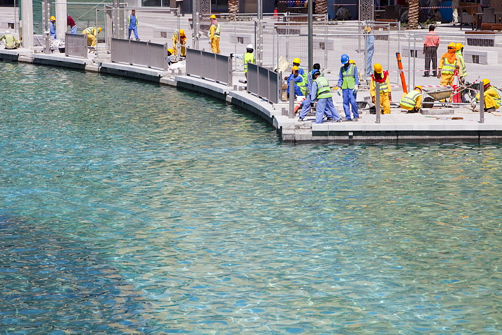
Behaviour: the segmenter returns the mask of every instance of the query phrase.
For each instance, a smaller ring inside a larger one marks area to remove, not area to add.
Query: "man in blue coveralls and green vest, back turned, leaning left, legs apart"
[[[317,100],[315,112],[315,123],[322,123],[324,114],[328,121],[340,122],[341,118],[333,104],[333,96],[330,92],[328,80],[321,76],[317,69],[312,70],[312,90],[310,92],[310,107],[314,107],[314,101]],[[302,118],[299,121],[303,121]]]

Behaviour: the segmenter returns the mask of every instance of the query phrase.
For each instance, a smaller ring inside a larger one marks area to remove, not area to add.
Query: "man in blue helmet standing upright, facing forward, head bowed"
[[[343,111],[345,112],[345,119],[350,120],[350,107],[352,107],[353,121],[357,121],[359,113],[357,112],[356,94],[359,88],[359,73],[357,66],[350,64],[349,58],[346,54],[340,57],[340,62],[343,66],[340,68],[338,75],[338,95],[340,90],[343,92]]]

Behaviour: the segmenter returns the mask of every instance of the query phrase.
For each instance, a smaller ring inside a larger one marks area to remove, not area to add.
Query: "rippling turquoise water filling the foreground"
[[[502,332],[501,146],[288,146],[170,87],[0,73],[0,332]]]

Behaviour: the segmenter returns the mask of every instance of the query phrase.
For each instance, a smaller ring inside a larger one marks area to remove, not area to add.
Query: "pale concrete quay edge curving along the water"
[[[110,63],[109,58],[95,59],[93,56],[82,59],[65,57],[57,52],[46,55],[27,49],[0,49],[0,60],[99,72],[211,95],[267,120],[277,129],[285,143],[502,142],[502,116],[485,113],[484,123],[480,123],[479,112],[472,112],[464,107],[455,108],[454,114],[437,117],[420,113],[409,114],[402,112],[400,108],[392,108],[391,114],[381,115],[381,123],[375,123],[376,116],[363,109],[360,110],[361,117],[358,122],[316,124],[314,116],[307,116],[305,122],[298,122],[298,116],[290,118],[289,104],[286,102],[272,105],[248,94],[244,90],[245,85],[238,82],[238,79],[242,78],[239,73],[234,73],[234,86],[227,87],[191,76],[173,75],[169,71]],[[338,112],[343,117],[341,99],[336,94],[333,96]],[[399,97],[395,96],[395,99],[397,98]],[[362,99],[358,96],[358,100]]]

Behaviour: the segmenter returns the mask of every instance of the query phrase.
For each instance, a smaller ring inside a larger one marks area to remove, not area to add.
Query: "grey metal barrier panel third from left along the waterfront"
[[[232,86],[232,61],[228,56],[187,49],[186,68],[187,76],[197,76]]]

